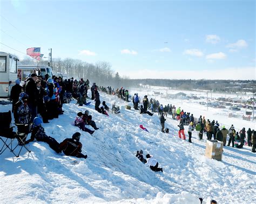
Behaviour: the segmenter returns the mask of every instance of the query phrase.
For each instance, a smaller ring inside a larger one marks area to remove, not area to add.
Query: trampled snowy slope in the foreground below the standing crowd
[[[94,102],[78,107],[71,101],[63,105],[64,115],[43,124],[47,135],[58,142],[80,132],[86,160],[57,154],[43,142],[29,143],[32,152],[23,150],[19,158],[8,151],[0,156],[1,203],[200,203],[198,198],[255,202],[256,159],[247,146],[226,146],[223,161],[211,160],[204,156],[205,142],[196,140],[196,132],[193,144],[179,139],[178,122],[170,116],[165,124],[170,133],[162,133],[157,114],[127,110],[127,102],[102,92],[100,100],[109,107],[116,102],[121,113],[109,112],[107,117],[94,110]],[[8,110],[11,105],[0,105],[1,112]],[[72,125],[77,112],[85,110],[99,127],[93,135]],[[139,149],[144,157],[152,154],[164,172],[153,172],[140,162],[134,156]]]

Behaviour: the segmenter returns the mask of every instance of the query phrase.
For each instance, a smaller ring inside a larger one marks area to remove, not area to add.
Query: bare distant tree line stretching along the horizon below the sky
[[[48,65],[48,61],[39,62],[26,58],[19,61],[22,65]],[[60,59],[52,60],[54,73],[65,73],[71,78],[89,79],[90,82],[96,82],[98,86],[111,86],[112,88],[137,88],[141,84],[150,86],[171,87],[172,89],[191,90],[202,89],[213,92],[256,92],[254,80],[169,80],[169,79],[129,79],[127,76],[120,76],[118,72],[111,69],[111,64],[106,61],[98,61],[91,64],[78,59]]]

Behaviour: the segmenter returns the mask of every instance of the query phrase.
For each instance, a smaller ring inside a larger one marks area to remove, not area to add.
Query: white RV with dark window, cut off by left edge
[[[9,97],[12,86],[17,80],[16,57],[9,53],[0,52],[0,97]]]

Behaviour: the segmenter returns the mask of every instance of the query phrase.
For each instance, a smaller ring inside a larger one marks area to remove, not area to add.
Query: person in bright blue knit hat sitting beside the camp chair
[[[59,150],[59,143],[56,141],[55,138],[49,137],[44,132],[44,128],[41,126],[43,123],[42,119],[39,117],[35,117],[33,119],[33,124],[31,127],[32,133],[30,139],[26,140],[25,144],[28,144],[29,142],[33,142],[33,140],[37,140],[37,142],[45,142],[49,144],[51,149],[56,151],[57,153],[61,152]]]

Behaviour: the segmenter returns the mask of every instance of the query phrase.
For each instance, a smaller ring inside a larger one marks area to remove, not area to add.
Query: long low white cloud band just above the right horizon
[[[121,76],[130,79],[223,79],[223,80],[255,80],[255,67],[230,67],[223,69],[184,70],[177,67],[175,71],[159,71],[159,69],[136,69],[136,72],[118,71]],[[232,74],[230,74],[232,73]]]

